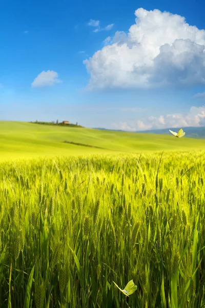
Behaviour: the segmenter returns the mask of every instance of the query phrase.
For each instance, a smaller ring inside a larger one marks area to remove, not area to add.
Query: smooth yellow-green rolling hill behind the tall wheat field
[[[0,130],[1,160],[88,153],[117,155],[119,152],[205,150],[205,140],[177,139],[164,134],[76,129],[9,121],[1,121]]]

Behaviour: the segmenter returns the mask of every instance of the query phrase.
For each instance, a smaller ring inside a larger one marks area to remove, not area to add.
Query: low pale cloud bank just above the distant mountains
[[[114,123],[113,126],[122,130],[148,130],[170,127],[205,126],[205,105],[201,107],[191,107],[187,113],[173,113],[160,115],[136,121]]]

